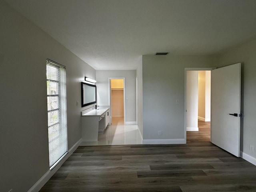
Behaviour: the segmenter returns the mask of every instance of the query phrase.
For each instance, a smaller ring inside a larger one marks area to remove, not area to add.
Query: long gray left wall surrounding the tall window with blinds
[[[66,66],[68,149],[80,138],[80,82],[95,70],[0,0],[0,191],[27,192],[48,170],[46,58]]]

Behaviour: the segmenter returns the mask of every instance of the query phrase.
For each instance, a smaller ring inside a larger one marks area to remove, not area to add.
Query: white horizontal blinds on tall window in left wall
[[[66,68],[46,60],[50,170],[67,154]]]

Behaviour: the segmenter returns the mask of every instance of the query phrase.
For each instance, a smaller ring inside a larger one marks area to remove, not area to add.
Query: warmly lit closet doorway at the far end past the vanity
[[[123,123],[125,118],[125,78],[109,78],[109,94],[110,94],[110,121],[118,118]]]

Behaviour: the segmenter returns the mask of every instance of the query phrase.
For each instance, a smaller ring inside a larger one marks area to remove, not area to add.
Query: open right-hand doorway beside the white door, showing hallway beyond
[[[211,70],[214,68],[185,68],[185,138],[187,131],[210,128]],[[209,140],[210,140],[210,129]]]

